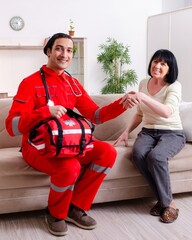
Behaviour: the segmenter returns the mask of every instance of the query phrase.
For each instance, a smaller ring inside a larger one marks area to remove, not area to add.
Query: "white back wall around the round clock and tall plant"
[[[41,44],[47,36],[67,32],[69,19],[73,19],[76,36],[87,37],[87,90],[97,94],[104,84],[97,55],[99,45],[108,37],[130,46],[131,68],[137,72],[138,80],[146,76],[147,18],[161,13],[162,0],[0,0],[0,6],[0,41]],[[22,31],[9,27],[15,15],[25,20]]]

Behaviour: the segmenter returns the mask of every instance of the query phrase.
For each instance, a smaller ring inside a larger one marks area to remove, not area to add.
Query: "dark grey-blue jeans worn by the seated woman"
[[[182,130],[143,128],[133,146],[133,162],[152,187],[162,207],[172,201],[168,160],[185,145]]]

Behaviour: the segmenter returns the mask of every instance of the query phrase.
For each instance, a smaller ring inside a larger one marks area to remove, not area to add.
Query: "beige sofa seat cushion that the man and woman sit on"
[[[113,141],[109,143],[113,144]],[[117,159],[106,180],[135,179],[135,177],[141,176],[131,162],[133,143],[134,140],[130,139],[129,147],[124,147],[122,143],[116,148]],[[181,176],[182,172],[189,171],[191,174],[191,147],[191,144],[187,143],[184,149],[169,161],[170,172],[180,172]],[[49,176],[30,167],[23,160],[19,148],[0,149],[0,155],[0,189],[11,189],[13,186],[15,189],[49,186]]]

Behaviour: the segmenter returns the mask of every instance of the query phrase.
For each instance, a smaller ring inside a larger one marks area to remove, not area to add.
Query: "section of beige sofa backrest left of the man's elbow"
[[[20,147],[21,136],[11,137],[5,128],[5,119],[8,116],[12,98],[0,99],[0,148]]]

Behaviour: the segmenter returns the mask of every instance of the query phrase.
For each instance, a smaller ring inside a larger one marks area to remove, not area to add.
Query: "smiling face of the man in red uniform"
[[[73,58],[73,42],[68,38],[55,40],[52,50],[47,50],[47,67],[58,74],[62,73],[71,63]]]

